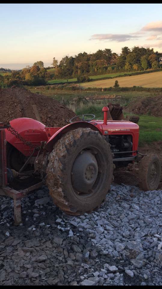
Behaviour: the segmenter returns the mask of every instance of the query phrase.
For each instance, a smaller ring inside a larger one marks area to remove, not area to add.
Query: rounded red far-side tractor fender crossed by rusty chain
[[[10,121],[10,125],[23,137],[26,141],[40,146],[41,141],[47,141],[48,137],[45,130],[45,125],[37,120],[22,117]],[[18,151],[26,157],[30,155],[30,147],[11,134],[5,129],[6,141],[12,144]],[[38,151],[36,152],[36,154]]]

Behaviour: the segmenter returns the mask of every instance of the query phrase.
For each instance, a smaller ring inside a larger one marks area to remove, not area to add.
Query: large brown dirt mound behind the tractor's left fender
[[[33,104],[36,104],[41,122],[46,126],[65,126],[75,116],[72,110],[57,100],[13,86],[0,89],[0,122],[18,117],[29,117],[36,120]]]

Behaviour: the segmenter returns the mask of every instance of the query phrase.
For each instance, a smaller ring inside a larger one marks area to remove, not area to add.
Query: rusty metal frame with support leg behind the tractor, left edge
[[[9,123],[0,123],[0,195],[11,197],[14,200],[14,225],[19,225],[22,222],[21,199],[26,197],[29,192],[44,185],[44,180],[21,191],[16,191],[8,186],[5,128],[9,126]]]

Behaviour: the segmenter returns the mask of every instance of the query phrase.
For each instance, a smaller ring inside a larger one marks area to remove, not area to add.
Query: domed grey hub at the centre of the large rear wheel
[[[80,193],[90,193],[98,175],[95,156],[89,151],[81,152],[72,166],[72,186]]]

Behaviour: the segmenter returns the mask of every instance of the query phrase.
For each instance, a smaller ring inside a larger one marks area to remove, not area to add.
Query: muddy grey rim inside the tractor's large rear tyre
[[[77,160],[77,157],[79,161],[79,156],[83,155],[84,157],[87,153],[92,154],[92,159],[95,158],[95,161],[92,161],[91,163],[87,162],[87,164],[83,166],[82,177],[84,175],[85,179],[80,178],[79,186],[79,184],[76,185],[75,179],[79,176],[81,170],[76,170],[77,166],[75,165],[75,161]],[[99,150],[99,148],[95,146],[82,148],[79,154],[74,157],[70,170],[70,184],[75,197],[77,197],[79,200],[86,201],[87,198],[91,198],[96,195],[105,179],[105,165],[104,154]]]

